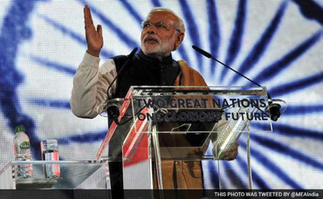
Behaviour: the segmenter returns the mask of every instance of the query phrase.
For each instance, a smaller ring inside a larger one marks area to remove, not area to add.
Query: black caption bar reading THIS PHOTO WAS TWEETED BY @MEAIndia
[[[323,198],[322,190],[125,190],[131,199]],[[111,190],[0,190],[1,199],[109,199]]]

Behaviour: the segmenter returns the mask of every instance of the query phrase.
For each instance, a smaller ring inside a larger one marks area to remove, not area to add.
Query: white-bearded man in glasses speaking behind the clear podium
[[[102,103],[110,98],[124,98],[130,86],[207,86],[203,77],[195,69],[187,66],[185,61],[175,61],[171,52],[177,50],[185,37],[185,25],[180,17],[168,8],[153,8],[142,23],[141,51],[130,57],[128,67],[119,74],[128,57],[121,55],[112,57],[99,67],[99,52],[103,46],[102,26],[94,27],[91,12],[84,6],[85,34],[87,52],[77,69],[73,80],[70,105],[72,112],[80,118],[94,118],[104,110]],[[116,75],[116,82],[111,85]],[[109,96],[107,90],[109,89]],[[117,138],[116,138],[117,137]],[[114,135],[110,150],[121,154],[121,144],[116,140],[124,140],[124,136]],[[113,143],[118,142],[118,143]],[[238,144],[226,153],[224,159],[235,159]],[[202,166],[200,161],[195,164],[182,164],[180,168],[189,166],[195,170],[184,176],[194,183],[177,179],[165,179],[164,188],[203,188]],[[163,166],[163,173],[173,173],[175,164]],[[165,170],[168,169],[168,170]],[[175,169],[175,170],[174,170]],[[178,169],[178,168],[177,168]],[[112,194],[123,189],[122,162],[109,163]],[[182,172],[184,173],[184,172]],[[168,175],[172,176],[172,175]],[[177,176],[177,178],[181,178]],[[175,183],[174,183],[175,182]]]

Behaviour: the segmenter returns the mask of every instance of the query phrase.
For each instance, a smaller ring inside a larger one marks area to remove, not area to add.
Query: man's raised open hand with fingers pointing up
[[[85,35],[87,38],[87,53],[99,57],[100,50],[103,46],[102,26],[97,25],[97,30],[95,30],[91,11],[87,5],[84,6],[84,23]]]

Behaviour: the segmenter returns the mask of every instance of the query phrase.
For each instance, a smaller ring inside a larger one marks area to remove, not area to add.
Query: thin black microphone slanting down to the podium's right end
[[[224,67],[231,69],[231,71],[235,72],[236,74],[239,74],[240,76],[243,76],[245,79],[248,79],[248,81],[251,81],[253,84],[256,84],[257,86],[261,86],[260,84],[256,83],[255,81],[253,81],[252,79],[249,79],[247,76],[244,76],[243,74],[241,74],[240,72],[237,72],[235,69],[232,69],[231,67],[229,67],[228,65],[220,62],[218,59],[216,59],[215,57],[213,57],[211,54],[209,54],[209,52],[206,52],[202,49],[200,49],[199,47],[197,47],[196,45],[192,45],[192,48],[194,50],[196,50],[197,52],[201,53],[202,55],[204,55],[207,58],[210,59],[214,59],[215,61],[219,62],[220,64],[222,64]],[[262,87],[262,86],[261,86]],[[278,118],[280,117],[280,108],[282,106],[280,106],[279,103],[273,103],[273,99],[270,97],[269,93],[267,93],[268,95],[268,106],[265,107],[265,112],[269,113],[270,115],[270,119],[273,121],[277,121]],[[261,110],[262,111],[262,110]]]

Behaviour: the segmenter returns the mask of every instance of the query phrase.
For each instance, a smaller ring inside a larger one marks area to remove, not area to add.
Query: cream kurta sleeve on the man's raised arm
[[[116,64],[109,59],[99,67],[99,57],[87,54],[82,59],[73,79],[70,106],[72,113],[80,118],[95,118],[103,112],[102,105],[107,100],[107,89],[116,77]],[[116,81],[109,90],[113,96]]]

